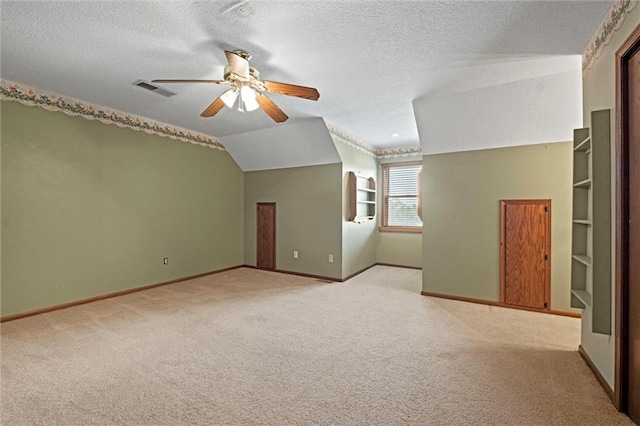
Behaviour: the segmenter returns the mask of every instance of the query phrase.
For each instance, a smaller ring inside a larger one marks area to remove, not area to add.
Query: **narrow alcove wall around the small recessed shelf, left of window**
[[[377,177],[376,158],[354,148],[334,137],[336,149],[342,159],[342,278],[346,278],[376,263],[378,245],[379,210],[376,218],[363,223],[347,221],[349,210],[349,190],[347,173],[357,172],[376,179],[376,188],[380,188]]]

